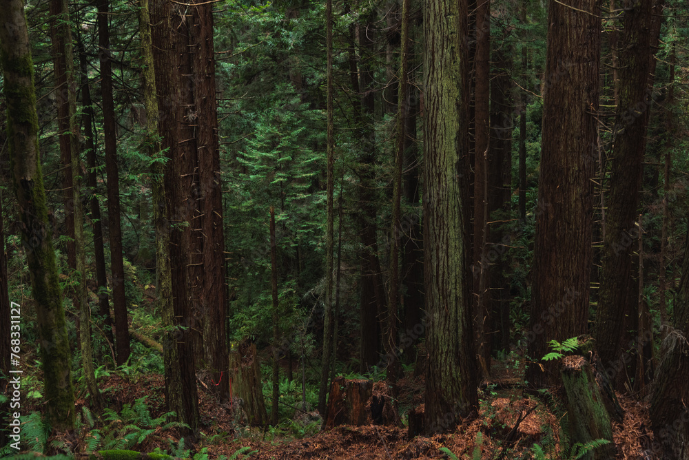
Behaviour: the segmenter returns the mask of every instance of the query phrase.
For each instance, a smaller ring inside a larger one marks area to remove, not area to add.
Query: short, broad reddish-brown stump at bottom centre
[[[398,424],[399,417],[387,384],[366,379],[337,377],[330,386],[323,428],[338,425]]]

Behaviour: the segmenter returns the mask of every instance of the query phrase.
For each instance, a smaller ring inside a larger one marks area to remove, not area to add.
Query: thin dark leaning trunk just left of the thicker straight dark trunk
[[[96,177],[96,143],[93,134],[94,110],[88,81],[88,59],[81,42],[79,43],[79,63],[81,67],[81,100],[83,103],[82,124],[86,146],[88,187],[91,195],[91,222],[93,225],[93,252],[94,265],[96,266],[96,285],[98,286],[99,316],[101,317],[100,322],[104,326],[103,332],[107,341],[110,344],[114,344],[110,304],[107,301],[107,271],[105,269],[105,247],[103,246],[103,224],[101,223],[101,204],[98,200],[98,178]]]

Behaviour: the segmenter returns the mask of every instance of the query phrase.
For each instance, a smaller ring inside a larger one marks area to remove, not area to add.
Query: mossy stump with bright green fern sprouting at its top
[[[563,419],[566,426],[563,428],[570,436],[570,444],[607,439],[610,443],[590,450],[582,458],[615,458],[613,427],[592,366],[582,356],[567,356],[563,359],[561,374],[567,409],[567,415]]]

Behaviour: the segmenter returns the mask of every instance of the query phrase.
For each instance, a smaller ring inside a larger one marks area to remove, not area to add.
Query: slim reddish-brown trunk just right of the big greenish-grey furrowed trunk
[[[490,70],[491,2],[479,0],[476,7],[476,55],[474,85],[474,185],[473,185],[473,265],[472,305],[479,370],[483,379],[491,375],[491,328],[488,290],[489,270],[484,265],[488,222],[489,141],[490,141]]]

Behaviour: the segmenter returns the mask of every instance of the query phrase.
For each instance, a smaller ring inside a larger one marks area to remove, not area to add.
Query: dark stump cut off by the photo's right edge
[[[689,459],[689,342],[677,329],[661,346],[662,361],[655,373],[650,405],[653,450],[658,458]]]

